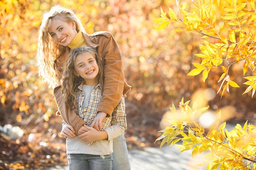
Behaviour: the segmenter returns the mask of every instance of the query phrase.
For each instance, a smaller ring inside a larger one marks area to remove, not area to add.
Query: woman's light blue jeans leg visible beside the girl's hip
[[[112,170],[130,170],[130,161],[124,133],[113,139]]]

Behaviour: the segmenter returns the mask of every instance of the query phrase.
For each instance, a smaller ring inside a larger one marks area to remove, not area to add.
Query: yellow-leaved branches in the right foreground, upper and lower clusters
[[[168,8],[165,12],[161,8],[161,18],[154,22],[159,23],[158,29],[166,28],[171,23],[182,26],[175,31],[194,32],[200,35],[204,44],[199,44],[200,53],[195,55],[201,58],[200,63],[193,63],[194,67],[189,76],[202,73],[202,81],[205,82],[213,68],[222,72],[218,82],[221,82],[219,93],[222,95],[229,87],[239,88],[238,84],[229,76],[232,67],[241,67],[248,85],[243,94],[256,91],[256,9],[255,2],[236,0],[227,1],[193,1],[190,8],[186,3],[177,2],[177,9]],[[212,40],[214,39],[214,40]],[[221,95],[221,96],[222,96]],[[179,111],[175,105],[170,108],[168,119],[172,126],[167,126],[161,137],[160,147],[165,143],[168,146],[182,141],[182,145],[176,145],[180,152],[192,150],[192,156],[207,152],[204,163],[207,170],[254,170],[256,169],[256,127],[252,124],[243,126],[237,124],[233,130],[226,129],[226,122],[213,126],[207,133],[204,127],[198,123],[202,114],[206,114],[209,106],[199,108],[194,102],[184,102],[182,98]],[[220,119],[221,110],[216,115]],[[210,119],[210,118],[208,118]]]

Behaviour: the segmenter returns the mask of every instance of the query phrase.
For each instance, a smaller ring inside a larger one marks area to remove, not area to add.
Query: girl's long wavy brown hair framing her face
[[[65,105],[74,110],[76,113],[78,113],[78,106],[76,102],[76,91],[78,89],[78,86],[81,85],[81,83],[85,83],[84,79],[80,76],[77,77],[74,74],[75,71],[75,61],[76,57],[81,54],[89,53],[91,54],[98,66],[99,66],[99,73],[96,77],[97,83],[101,86],[101,94],[103,93],[103,86],[104,86],[104,75],[103,75],[103,64],[101,62],[101,59],[97,53],[92,47],[89,46],[81,46],[79,48],[73,49],[67,58],[67,64],[63,71],[63,76],[61,79],[61,93],[63,94]]]

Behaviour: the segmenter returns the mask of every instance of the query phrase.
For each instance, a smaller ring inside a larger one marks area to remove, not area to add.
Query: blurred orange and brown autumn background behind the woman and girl
[[[175,9],[175,1],[2,0],[0,169],[67,165],[65,139],[60,135],[62,119],[55,115],[52,89],[43,84],[35,66],[41,15],[56,4],[71,8],[87,33],[109,31],[117,41],[125,77],[132,86],[126,97],[129,150],[159,146],[154,142],[161,135],[158,131],[170,126],[166,120],[169,107],[172,103],[177,106],[182,97],[184,101],[197,100],[200,106],[209,105],[208,117],[204,115],[202,120],[211,120],[213,125],[214,114],[220,109],[221,121],[243,124],[249,119],[255,123],[255,95],[242,95],[247,88],[243,67],[232,67],[230,75],[240,88],[231,88],[220,98],[216,93],[222,73],[217,69],[206,83],[201,75],[187,76],[192,62],[201,62],[194,55],[199,53],[200,36],[175,32],[179,25],[156,31],[153,20],[160,17],[160,7]]]

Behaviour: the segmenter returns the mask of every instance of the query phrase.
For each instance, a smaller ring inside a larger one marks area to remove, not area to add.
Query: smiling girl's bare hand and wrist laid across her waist
[[[101,139],[108,139],[108,134],[105,130],[98,131],[90,126],[84,125],[86,129],[88,129],[87,132],[84,132],[81,135],[77,135],[80,137],[83,141],[89,143]]]

